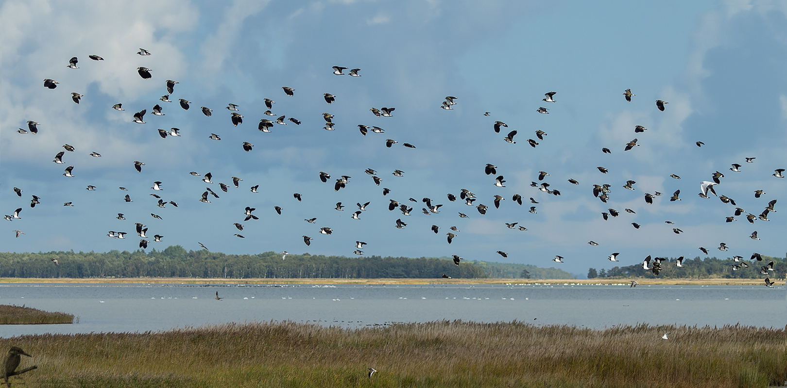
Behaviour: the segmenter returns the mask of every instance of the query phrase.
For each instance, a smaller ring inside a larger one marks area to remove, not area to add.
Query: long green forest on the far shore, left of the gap
[[[55,265],[50,259],[57,259]],[[186,251],[105,253],[57,251],[0,253],[0,277],[194,277],[194,278],[454,278],[488,277],[471,262],[454,265],[441,258],[345,258],[311,254],[223,254]]]

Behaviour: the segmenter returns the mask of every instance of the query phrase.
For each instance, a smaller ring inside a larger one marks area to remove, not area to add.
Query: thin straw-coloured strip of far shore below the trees
[[[135,277],[135,278],[0,278],[2,284],[561,284],[561,285],[599,285],[629,284],[630,280],[645,285],[762,285],[762,279],[338,279],[338,278],[301,278],[301,279],[195,279],[179,277]],[[784,280],[777,280],[777,285]]]

